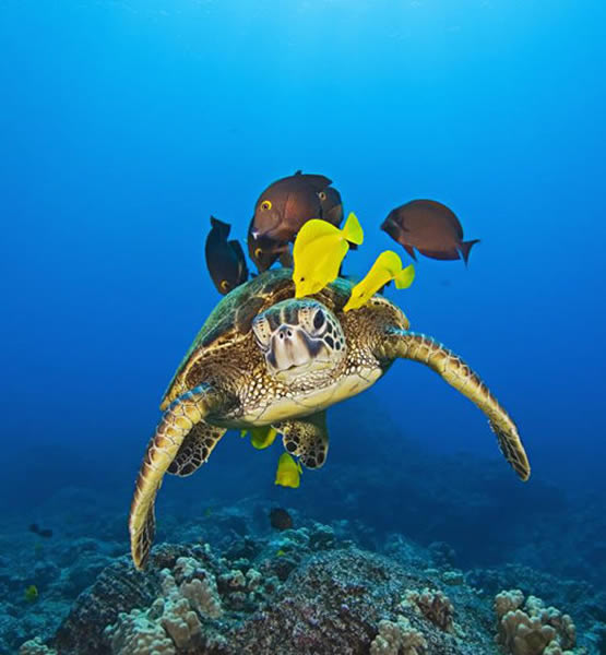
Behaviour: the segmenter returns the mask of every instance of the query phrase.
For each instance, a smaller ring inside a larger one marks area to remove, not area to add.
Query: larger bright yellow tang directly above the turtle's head
[[[343,229],[326,221],[308,221],[293,248],[295,297],[317,294],[336,279],[341,262],[349,250],[348,241],[359,246],[363,240],[364,231],[355,214],[349,214]]]

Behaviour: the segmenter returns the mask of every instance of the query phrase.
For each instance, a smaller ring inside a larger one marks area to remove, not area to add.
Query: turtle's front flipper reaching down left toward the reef
[[[139,471],[129,515],[131,555],[138,569],[144,567],[154,540],[154,502],[164,474],[179,453],[192,428],[227,401],[209,384],[197,386],[177,398],[164,413]]]

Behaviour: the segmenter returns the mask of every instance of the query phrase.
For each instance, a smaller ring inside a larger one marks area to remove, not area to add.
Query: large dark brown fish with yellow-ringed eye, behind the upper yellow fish
[[[331,184],[323,175],[295,175],[270,184],[254,205],[251,234],[274,241],[292,241],[302,224],[322,218],[319,193]]]

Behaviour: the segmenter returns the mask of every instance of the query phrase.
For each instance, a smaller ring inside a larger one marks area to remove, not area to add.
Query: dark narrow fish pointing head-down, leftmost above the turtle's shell
[[[206,266],[219,294],[228,294],[248,279],[248,266],[239,241],[228,241],[231,226],[211,216],[204,253]]]

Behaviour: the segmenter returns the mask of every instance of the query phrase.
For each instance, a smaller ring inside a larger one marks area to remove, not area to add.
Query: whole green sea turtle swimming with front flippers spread
[[[304,466],[318,468],[329,449],[325,409],[371,386],[397,358],[427,365],[473,401],[507,461],[528,478],[515,424],[479,377],[445,346],[409,332],[404,313],[382,296],[343,312],[352,287],[337,278],[295,299],[292,270],[278,269],[216,306],[168,385],[136,479],[129,528],[138,568],[150,553],[165,473],[192,474],[228,428],[268,425]]]

